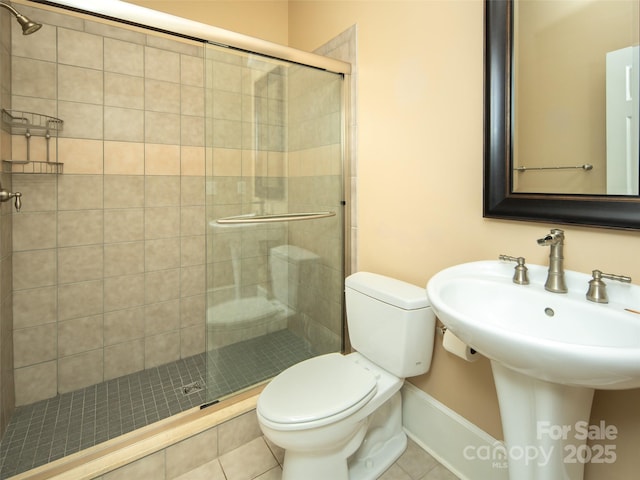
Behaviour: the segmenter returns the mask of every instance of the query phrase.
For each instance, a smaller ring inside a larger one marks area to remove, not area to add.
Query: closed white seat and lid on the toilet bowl
[[[375,395],[374,374],[339,353],[298,363],[269,383],[258,399],[258,414],[283,430],[336,422]]]

